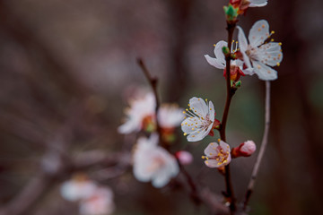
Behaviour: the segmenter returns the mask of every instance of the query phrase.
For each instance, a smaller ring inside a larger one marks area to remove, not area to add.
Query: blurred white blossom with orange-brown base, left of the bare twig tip
[[[142,129],[153,131],[155,107],[153,93],[147,93],[144,98],[130,101],[130,108],[126,109],[127,121],[118,127],[118,132],[132,133]]]

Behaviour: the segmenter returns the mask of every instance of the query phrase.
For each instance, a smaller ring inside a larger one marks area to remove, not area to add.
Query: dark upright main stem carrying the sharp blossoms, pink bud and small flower
[[[231,87],[231,43],[232,43],[232,36],[233,31],[235,29],[236,24],[227,22],[227,30],[228,30],[228,47],[229,47],[229,53],[225,55],[225,61],[226,61],[226,89],[227,89],[227,97],[225,100],[225,107],[223,111],[223,118],[221,122],[220,127],[220,137],[223,142],[226,142],[226,136],[225,136],[225,128],[226,128],[226,122],[228,119],[229,114],[229,108],[231,104],[231,99],[234,95],[235,90]],[[225,186],[226,186],[226,197],[230,199],[230,211],[231,214],[234,214],[234,211],[236,211],[236,205],[235,205],[235,197],[233,193],[233,188],[231,184],[231,174],[230,174],[230,165],[225,166]]]

